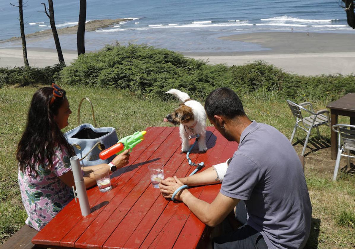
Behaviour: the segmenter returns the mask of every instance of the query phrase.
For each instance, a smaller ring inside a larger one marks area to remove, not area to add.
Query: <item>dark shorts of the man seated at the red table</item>
[[[236,231],[213,238],[212,247],[213,249],[267,249],[261,233],[249,225],[244,225]]]

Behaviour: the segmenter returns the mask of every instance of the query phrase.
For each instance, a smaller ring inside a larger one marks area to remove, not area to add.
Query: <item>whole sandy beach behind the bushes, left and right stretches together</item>
[[[210,64],[242,65],[263,60],[286,72],[301,75],[351,74],[355,72],[354,34],[264,32],[238,34],[220,39],[256,43],[269,50],[236,53],[185,54]],[[77,57],[76,51],[64,51],[67,64]],[[58,63],[56,50],[28,48],[30,65],[44,67]],[[21,48],[0,49],[0,67],[22,66]]]

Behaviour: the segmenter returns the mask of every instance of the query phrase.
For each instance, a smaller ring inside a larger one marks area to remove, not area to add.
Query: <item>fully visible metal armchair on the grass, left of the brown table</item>
[[[305,154],[305,150],[307,147],[308,139],[310,138],[310,135],[311,135],[312,128],[317,129],[317,134],[319,137],[320,133],[319,133],[318,126],[328,125],[329,127],[331,127],[330,126],[331,121],[330,121],[330,117],[329,117],[329,111],[328,110],[319,110],[319,111],[315,112],[313,110],[313,106],[310,102],[304,102],[304,103],[297,105],[296,103],[293,103],[290,100],[286,100],[286,101],[291,109],[292,115],[294,116],[294,118],[296,120],[296,124],[295,124],[295,127],[293,128],[290,142],[292,143],[292,140],[293,140],[293,137],[295,136],[297,127],[301,128],[302,130],[307,132],[307,138],[306,138],[305,145],[303,146],[302,153],[301,153],[301,155],[303,156]],[[305,106],[308,106],[309,110],[306,109]],[[309,116],[303,117],[301,111],[306,112],[307,114],[309,114]],[[326,114],[326,115],[323,115],[323,114]]]

